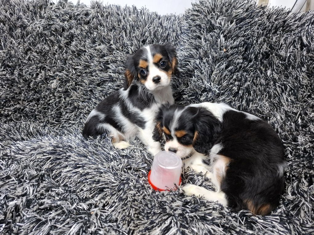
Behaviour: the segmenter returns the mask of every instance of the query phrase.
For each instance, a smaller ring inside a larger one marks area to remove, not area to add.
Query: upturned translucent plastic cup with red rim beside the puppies
[[[154,190],[176,190],[181,184],[182,160],[173,152],[161,151],[155,155],[148,182]]]

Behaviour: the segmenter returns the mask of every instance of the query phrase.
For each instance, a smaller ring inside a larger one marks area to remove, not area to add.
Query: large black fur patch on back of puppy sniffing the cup
[[[261,119],[229,110],[216,143],[223,146],[218,154],[231,159],[221,183],[228,205],[258,215],[277,207],[284,189],[280,166],[285,162],[283,145],[273,128]]]

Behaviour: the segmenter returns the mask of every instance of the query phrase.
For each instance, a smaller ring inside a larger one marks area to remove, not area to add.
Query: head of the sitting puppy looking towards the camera
[[[140,81],[150,91],[169,86],[171,76],[176,72],[176,50],[170,44],[150,44],[129,55],[126,62],[126,84]]]

